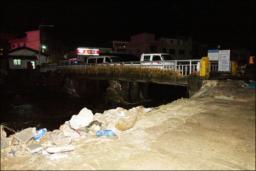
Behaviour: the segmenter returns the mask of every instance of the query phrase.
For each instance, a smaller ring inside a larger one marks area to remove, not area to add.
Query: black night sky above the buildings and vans
[[[156,38],[179,34],[201,43],[254,48],[255,2],[1,0],[1,26],[25,36],[24,32],[38,30],[39,25],[54,25],[49,29],[56,37],[77,47],[116,39],[129,41],[133,35],[149,32]]]

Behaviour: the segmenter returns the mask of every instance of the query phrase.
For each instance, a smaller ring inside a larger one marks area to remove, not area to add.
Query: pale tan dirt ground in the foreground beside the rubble
[[[233,97],[219,99],[219,95]],[[242,99],[242,100],[241,100]],[[115,137],[80,139],[68,158],[1,155],[1,170],[256,170],[255,88],[222,81],[207,97],[153,108]]]

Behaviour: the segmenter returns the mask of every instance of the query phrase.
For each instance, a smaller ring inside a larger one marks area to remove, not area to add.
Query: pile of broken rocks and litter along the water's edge
[[[80,139],[102,135],[118,136],[135,125],[136,120],[151,111],[151,108],[138,106],[132,109],[116,108],[93,115],[91,110],[83,108],[79,114],[73,115],[69,121],[54,131],[45,128],[36,130],[26,128],[6,138],[4,127],[1,126],[1,154],[13,157],[17,154],[41,152],[46,159],[67,158],[67,154],[75,149]],[[103,131],[102,131],[103,130]],[[102,131],[102,132],[100,132]],[[102,134],[106,131],[107,134]],[[112,132],[112,133],[109,133]],[[41,134],[39,134],[41,133]]]

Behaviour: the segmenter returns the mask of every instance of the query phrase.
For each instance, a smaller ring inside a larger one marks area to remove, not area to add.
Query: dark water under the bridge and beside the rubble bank
[[[19,96],[12,93],[1,93],[1,124],[20,131],[28,127],[46,128],[48,131],[59,129],[72,115],[78,114],[83,108],[103,113],[104,110],[122,107],[130,109],[137,106],[145,108],[158,107],[181,97],[186,98],[186,87],[151,84],[148,102],[134,105],[116,106],[105,103],[104,95],[95,98],[71,98],[63,92],[26,92]],[[16,96],[16,97],[15,97]],[[7,136],[13,132],[5,129]]]

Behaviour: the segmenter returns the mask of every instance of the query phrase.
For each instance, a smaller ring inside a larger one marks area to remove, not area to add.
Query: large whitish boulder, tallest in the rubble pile
[[[75,114],[70,119],[70,127],[78,129],[88,126],[93,121],[93,113],[87,108],[83,108],[79,114]]]

